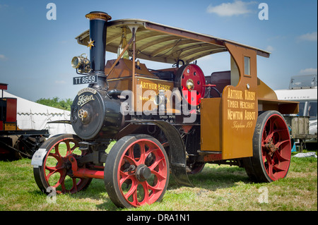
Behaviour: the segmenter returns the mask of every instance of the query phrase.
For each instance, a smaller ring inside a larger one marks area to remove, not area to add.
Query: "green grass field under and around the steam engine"
[[[317,154],[317,151],[316,151]],[[195,188],[177,186],[172,176],[162,202],[119,209],[104,181],[93,179],[87,190],[47,201],[34,181],[30,159],[0,162],[0,211],[317,211],[317,159],[292,157],[288,176],[273,183],[251,183],[245,169],[206,164],[190,176]],[[265,195],[268,199],[261,198]]]

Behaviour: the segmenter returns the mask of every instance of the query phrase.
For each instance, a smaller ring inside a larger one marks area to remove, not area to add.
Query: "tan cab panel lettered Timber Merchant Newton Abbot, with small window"
[[[222,97],[222,158],[252,157],[257,122],[257,51],[225,43],[239,73],[239,82]],[[248,61],[247,61],[248,58]]]

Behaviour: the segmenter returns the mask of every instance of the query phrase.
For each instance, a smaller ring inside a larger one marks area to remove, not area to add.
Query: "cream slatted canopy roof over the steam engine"
[[[269,57],[269,52],[240,44],[227,39],[204,35],[180,28],[173,28],[148,20],[123,19],[112,20],[107,23],[106,51],[117,53],[122,38],[122,28],[126,28],[127,41],[131,38],[131,28],[136,30],[136,58],[175,63],[182,59],[190,63],[203,56],[228,51],[225,42],[236,44],[248,49],[254,49],[257,54]],[[89,30],[76,37],[78,44],[88,45]],[[132,54],[129,47],[129,55]]]

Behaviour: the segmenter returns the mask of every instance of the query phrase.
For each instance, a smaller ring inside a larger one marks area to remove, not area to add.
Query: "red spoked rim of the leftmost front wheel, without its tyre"
[[[61,143],[66,144],[66,153],[61,154],[59,145]],[[44,161],[44,168],[42,174],[44,175],[47,186],[55,188],[58,194],[64,193],[76,193],[86,187],[86,184],[90,181],[89,178],[76,178],[71,177],[68,174],[69,157],[78,156],[73,154],[79,147],[78,140],[64,139],[55,143],[47,152]],[[78,150],[79,151],[79,150]],[[87,152],[82,151],[81,155],[85,155]],[[56,181],[58,179],[58,181]]]

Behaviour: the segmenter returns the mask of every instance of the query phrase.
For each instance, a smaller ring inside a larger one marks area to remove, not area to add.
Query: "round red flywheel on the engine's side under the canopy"
[[[188,104],[197,106],[204,98],[206,79],[201,68],[196,64],[187,64],[179,68],[176,85]]]

